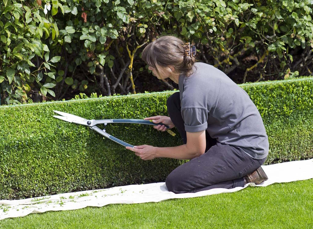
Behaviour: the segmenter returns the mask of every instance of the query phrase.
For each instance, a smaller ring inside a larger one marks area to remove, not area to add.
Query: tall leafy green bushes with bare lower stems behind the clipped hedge
[[[0,15],[4,104],[154,90],[140,52],[164,34],[242,82],[254,70],[262,80],[312,69],[309,0],[3,0]]]

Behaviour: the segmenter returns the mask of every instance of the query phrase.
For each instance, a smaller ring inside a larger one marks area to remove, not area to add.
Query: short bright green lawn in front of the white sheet
[[[4,219],[0,228],[312,228],[313,179],[158,203]]]

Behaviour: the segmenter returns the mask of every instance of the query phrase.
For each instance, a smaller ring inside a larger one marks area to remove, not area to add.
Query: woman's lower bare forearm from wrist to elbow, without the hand
[[[188,149],[187,145],[178,145],[173,147],[156,147],[156,157],[169,157],[174,159],[192,159],[200,156],[201,153]]]

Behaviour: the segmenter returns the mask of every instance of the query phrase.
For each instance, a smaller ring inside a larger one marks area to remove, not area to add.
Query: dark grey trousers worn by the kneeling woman
[[[179,92],[167,99],[167,111],[186,144]],[[207,131],[206,141],[203,155],[180,165],[167,176],[165,183],[169,191],[186,193],[212,188],[243,187],[243,177],[258,169],[266,159],[254,159],[239,148],[221,144],[212,139]]]

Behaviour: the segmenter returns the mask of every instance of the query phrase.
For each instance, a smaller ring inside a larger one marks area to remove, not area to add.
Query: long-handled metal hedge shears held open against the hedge
[[[67,122],[72,122],[75,124],[80,124],[80,125],[84,125],[84,126],[88,126],[90,129],[95,130],[97,133],[99,133],[100,135],[105,136],[106,138],[120,144],[123,146],[130,146],[130,147],[134,147],[133,145],[130,145],[118,138],[115,138],[114,136],[108,134],[107,132],[105,132],[105,128],[103,130],[101,130],[99,127],[97,127],[96,125],[98,124],[104,124],[104,126],[106,127],[106,125],[108,123],[137,123],[137,124],[147,124],[147,125],[165,125],[163,123],[153,123],[150,120],[141,120],[141,119],[101,119],[101,120],[87,120],[84,119],[82,117],[76,116],[76,115],[71,115],[69,113],[65,113],[65,112],[61,112],[61,111],[57,111],[54,110],[55,113],[59,114],[59,115],[53,115],[53,117],[67,121]],[[165,125],[166,128],[169,128],[167,125]],[[171,131],[172,132],[172,131]]]

